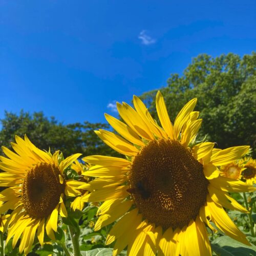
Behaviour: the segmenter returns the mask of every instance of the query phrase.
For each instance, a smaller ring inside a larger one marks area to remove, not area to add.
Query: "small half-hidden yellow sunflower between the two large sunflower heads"
[[[88,170],[90,168],[89,164],[82,164],[81,162],[79,162],[78,160],[75,160],[74,163],[71,165],[71,169],[75,170],[75,172],[81,176],[83,175],[84,172],[86,172],[86,170]],[[90,181],[90,177],[87,177],[85,175],[82,176],[82,179],[80,179],[83,182],[89,182]],[[83,194],[83,196],[87,195],[88,191],[85,191],[85,193]],[[84,206],[84,202],[81,201],[81,196],[76,197],[75,200],[71,203],[70,207],[72,210],[82,210],[83,206]]]

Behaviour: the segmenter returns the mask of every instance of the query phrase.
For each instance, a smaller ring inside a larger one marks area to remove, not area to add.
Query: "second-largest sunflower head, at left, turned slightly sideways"
[[[67,217],[63,200],[65,195],[80,195],[79,186],[83,182],[67,180],[65,169],[81,154],[72,155],[60,160],[56,151],[53,155],[39,150],[25,135],[25,139],[15,137],[11,143],[12,152],[2,147],[8,157],[0,156],[0,186],[8,187],[0,193],[0,214],[8,209],[13,210],[7,221],[7,241],[13,237],[12,245],[16,245],[21,237],[19,252],[27,254],[37,237],[40,245],[44,244],[44,234],[55,239],[58,215]]]

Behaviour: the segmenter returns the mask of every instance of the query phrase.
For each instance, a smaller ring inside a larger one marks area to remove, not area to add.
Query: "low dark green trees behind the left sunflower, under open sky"
[[[108,145],[94,133],[94,130],[109,129],[102,123],[73,123],[64,125],[54,117],[48,119],[42,112],[30,115],[21,111],[19,115],[5,112],[1,120],[0,145],[10,148],[10,142],[15,141],[15,135],[29,139],[40,149],[51,152],[60,150],[65,157],[75,153],[88,155],[117,155]]]

